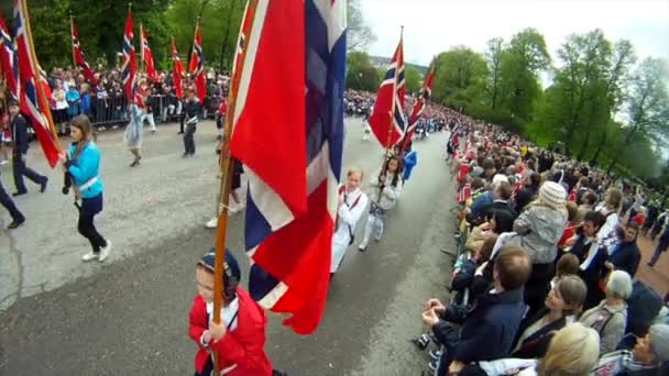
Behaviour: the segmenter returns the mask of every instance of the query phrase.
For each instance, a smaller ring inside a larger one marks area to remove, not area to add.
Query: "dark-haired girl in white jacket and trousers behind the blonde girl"
[[[372,231],[376,234],[374,239],[381,240],[383,235],[383,222],[388,210],[393,209],[399,199],[402,192],[402,172],[399,168],[399,159],[392,155],[386,159],[385,167],[372,177],[370,184],[370,215],[368,217],[368,225],[364,229],[364,237],[358,250],[364,252],[368,247]]]

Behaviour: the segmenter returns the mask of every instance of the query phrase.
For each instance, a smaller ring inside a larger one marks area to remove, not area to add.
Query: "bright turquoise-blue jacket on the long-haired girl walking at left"
[[[69,146],[69,155],[75,155],[77,145],[75,143]],[[90,187],[81,190],[83,198],[94,198],[102,192],[105,186],[102,178],[100,177],[100,150],[92,142],[89,141],[77,158],[73,158],[69,167],[67,168],[75,179],[75,186],[80,187],[87,181],[94,178],[98,178]]]

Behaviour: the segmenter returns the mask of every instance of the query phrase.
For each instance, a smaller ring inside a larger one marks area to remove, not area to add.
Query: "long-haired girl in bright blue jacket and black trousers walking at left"
[[[102,178],[100,177],[100,150],[92,140],[92,126],[86,115],[72,120],[73,144],[69,155],[61,153],[63,169],[73,179],[75,193],[81,198],[77,230],[90,242],[91,251],[84,255],[85,262],[103,262],[109,256],[111,242],[102,237],[94,224],[96,214],[102,211]]]

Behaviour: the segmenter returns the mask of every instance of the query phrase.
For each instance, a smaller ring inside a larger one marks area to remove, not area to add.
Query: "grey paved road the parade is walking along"
[[[361,141],[360,121],[347,126],[344,165],[377,168],[381,150]],[[164,125],[146,136],[136,169],[127,166],[121,132],[100,136],[107,190],[98,223],[114,247],[106,264],[79,261],[87,248],[72,198],[59,193],[59,173],[50,173],[44,195],[33,188],[18,200],[29,222],[0,232],[0,375],[191,374],[187,312],[194,264],[213,240],[202,223],[218,185],[215,132],[200,125],[190,159],[179,157],[175,133]],[[425,354],[407,340],[423,330],[420,305],[443,295],[450,267],[439,248],[453,246],[443,143],[445,134],[417,143],[419,164],[384,239],[364,254],[349,250],[315,334],[293,334],[271,313],[266,350],[275,367],[290,375],[420,374]],[[30,164],[46,172],[42,162]],[[9,175],[4,168],[6,187]],[[9,219],[0,215],[4,226]],[[245,269],[242,215],[232,218],[229,239]]]

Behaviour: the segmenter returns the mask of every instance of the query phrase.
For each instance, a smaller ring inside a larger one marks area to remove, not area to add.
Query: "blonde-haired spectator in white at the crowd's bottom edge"
[[[559,330],[542,360],[504,358],[479,362],[468,366],[460,376],[586,376],[597,365],[600,338],[597,333],[574,322]]]

